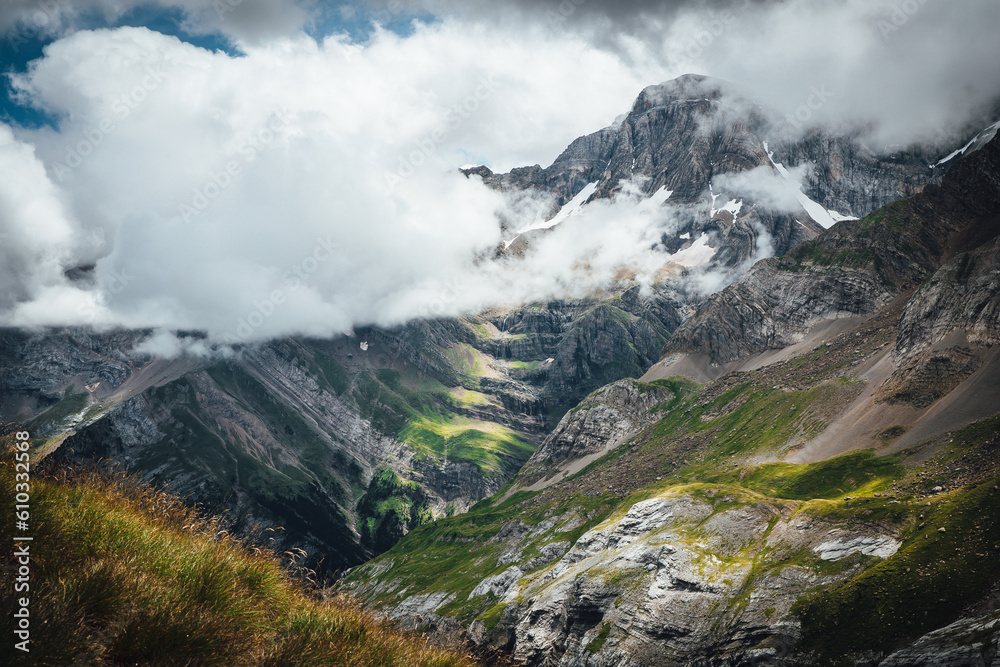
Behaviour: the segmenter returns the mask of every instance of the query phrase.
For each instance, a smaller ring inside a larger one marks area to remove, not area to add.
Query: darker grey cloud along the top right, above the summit
[[[953,142],[1000,95],[996,0],[401,1],[470,22],[573,33],[637,66],[727,79],[779,118],[806,107],[807,122],[790,130],[874,127],[876,149]],[[820,89],[832,94],[811,108]]]

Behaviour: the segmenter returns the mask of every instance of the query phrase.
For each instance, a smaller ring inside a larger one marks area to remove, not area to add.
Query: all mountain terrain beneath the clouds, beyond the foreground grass
[[[687,75],[547,168],[463,170],[552,202],[503,261],[669,211],[652,288],[207,357],[8,329],[0,415],[531,667],[1000,664],[1000,123],[773,118]]]

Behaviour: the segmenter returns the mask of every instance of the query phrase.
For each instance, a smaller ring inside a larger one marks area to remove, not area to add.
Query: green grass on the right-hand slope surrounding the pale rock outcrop
[[[365,594],[385,605],[446,591],[452,598],[438,613],[466,622],[479,618],[489,628],[500,620],[502,606],[490,595],[467,598],[484,577],[508,567],[497,564],[504,545],[492,540],[505,525],[579,518],[572,530],[560,533],[557,526],[539,534],[523,562],[545,543],[575,542],[645,498],[680,492],[733,496],[742,490],[749,503],[791,502],[796,513],[902,531],[904,546],[896,556],[800,601],[803,650],[837,656],[885,649],[941,627],[1000,581],[1000,498],[993,495],[1000,473],[990,455],[1000,420],[955,434],[957,444],[920,464],[914,461],[923,457],[910,458],[910,452],[852,453],[807,465],[746,462],[749,455],[785,451],[812,437],[858,395],[862,383],[852,369],[891,343],[894,331],[878,318],[866,326],[859,338],[843,337],[830,348],[710,385],[667,381],[678,398],[658,406],[661,421],[631,443],[544,492],[515,494],[496,507],[487,499],[468,515],[424,526],[376,561],[391,562],[391,568],[360,568],[348,583],[361,590],[381,584]],[[959,477],[956,467],[975,475]],[[928,496],[939,484],[954,490]],[[788,566],[823,573],[829,564],[811,554],[765,554],[753,577]]]

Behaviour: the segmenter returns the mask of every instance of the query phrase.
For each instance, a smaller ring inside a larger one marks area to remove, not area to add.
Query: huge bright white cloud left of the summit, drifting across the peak
[[[64,202],[65,230],[33,234],[51,269],[8,276],[22,298],[3,321],[329,335],[433,312],[456,281],[469,287],[448,307],[474,309],[647,261],[654,228],[607,205],[580,238],[541,242],[530,270],[485,261],[514,204],[456,167],[551,161],[650,77],[572,37],[517,37],[445,21],[240,58],[137,28],[50,45],[15,85],[63,120],[20,131],[7,170],[33,164],[33,201]],[[62,277],[91,264],[94,289]]]

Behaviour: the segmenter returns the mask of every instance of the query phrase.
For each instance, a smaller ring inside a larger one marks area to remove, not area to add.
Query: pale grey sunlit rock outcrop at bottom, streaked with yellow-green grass
[[[564,520],[552,517],[547,529]],[[515,522],[494,539],[518,553],[534,533]],[[473,596],[492,593],[505,606],[503,630],[494,636],[506,633],[514,659],[532,667],[690,665],[708,655],[704,664],[780,665],[786,663],[779,649],[798,637],[790,614],[795,599],[852,570],[821,575],[788,566],[753,577],[755,554],[808,550],[844,558],[857,551],[885,558],[898,544],[856,522],[847,529],[788,521],[777,505],[717,511],[688,495],[654,497],[588,531],[548,564],[515,558],[520,564],[485,578]],[[736,604],[741,593],[747,602]]]

